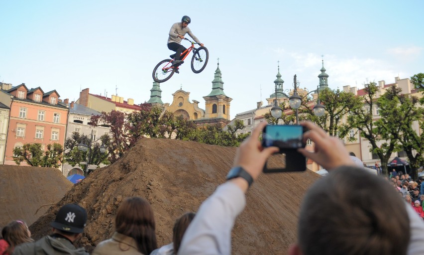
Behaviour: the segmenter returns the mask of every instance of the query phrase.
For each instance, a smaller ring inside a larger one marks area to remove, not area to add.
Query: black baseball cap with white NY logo
[[[87,212],[84,208],[77,204],[67,204],[59,209],[50,226],[64,232],[82,233],[86,222]]]

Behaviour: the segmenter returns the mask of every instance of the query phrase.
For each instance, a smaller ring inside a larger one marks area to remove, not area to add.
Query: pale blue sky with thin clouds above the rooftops
[[[424,72],[423,9],[423,0],[0,0],[0,81],[70,101],[90,88],[143,103],[154,66],[173,53],[169,29],[188,15],[209,63],[195,74],[187,58],[161,83],[162,101],[182,88],[205,109],[219,58],[232,119],[266,105],[278,65],[284,89],[296,74],[310,91],[322,59],[331,89]]]

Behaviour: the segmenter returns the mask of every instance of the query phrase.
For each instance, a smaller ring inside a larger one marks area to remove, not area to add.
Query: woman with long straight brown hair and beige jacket
[[[115,233],[93,255],[149,255],[157,248],[152,206],[141,197],[125,199],[115,216]]]

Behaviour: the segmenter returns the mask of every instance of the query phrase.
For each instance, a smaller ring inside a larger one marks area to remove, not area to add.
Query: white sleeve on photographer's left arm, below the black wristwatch
[[[231,254],[231,230],[245,205],[246,197],[237,185],[226,182],[218,186],[200,206],[184,234],[178,254]]]

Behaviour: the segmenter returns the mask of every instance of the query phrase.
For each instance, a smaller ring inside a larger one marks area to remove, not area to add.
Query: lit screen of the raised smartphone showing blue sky
[[[297,149],[305,147],[303,143],[303,126],[268,125],[262,133],[262,146],[277,146],[280,149]]]

